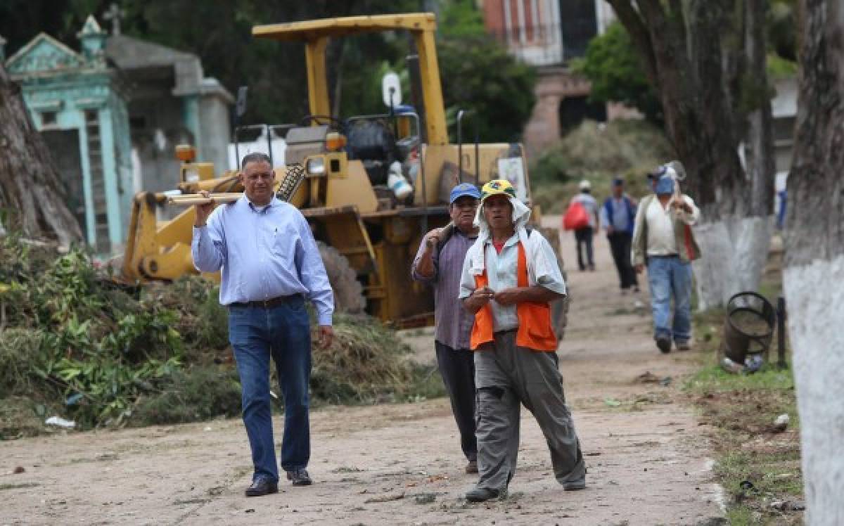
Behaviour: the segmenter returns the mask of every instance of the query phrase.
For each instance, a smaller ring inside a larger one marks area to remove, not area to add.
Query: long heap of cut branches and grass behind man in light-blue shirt
[[[198,277],[116,285],[80,249],[0,240],[0,438],[35,435],[50,416],[77,429],[240,414],[241,388],[218,288]],[[338,317],[313,356],[313,398],[414,397],[420,371],[395,333]]]

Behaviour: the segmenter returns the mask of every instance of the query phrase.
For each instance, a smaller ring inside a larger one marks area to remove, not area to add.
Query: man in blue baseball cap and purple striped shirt
[[[434,344],[436,362],[454,420],[460,430],[460,445],[466,455],[467,473],[478,473],[478,445],[475,440],[474,356],[469,336],[474,316],[457,300],[466,252],[478,238],[473,225],[480,192],[468,182],[452,188],[448,212],[451,223],[430,230],[419,244],[413,264],[413,278],[434,287]]]

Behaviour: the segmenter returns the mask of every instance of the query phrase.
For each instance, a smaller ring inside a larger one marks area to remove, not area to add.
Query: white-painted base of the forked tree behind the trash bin
[[[773,217],[745,217],[695,227],[702,254],[692,264],[698,310],[725,306],[734,294],[759,289],[773,223]]]

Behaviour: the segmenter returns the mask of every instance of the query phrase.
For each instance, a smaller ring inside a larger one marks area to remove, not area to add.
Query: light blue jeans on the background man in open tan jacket
[[[677,256],[647,258],[647,283],[651,288],[653,337],[686,341],[691,338],[691,263]],[[671,298],[674,297],[674,320]]]

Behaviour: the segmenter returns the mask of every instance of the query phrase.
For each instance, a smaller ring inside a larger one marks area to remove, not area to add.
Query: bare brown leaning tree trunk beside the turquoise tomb
[[[64,187],[44,139],[30,122],[20,87],[0,62],[0,208],[6,230],[68,247],[82,231],[67,206]]]

